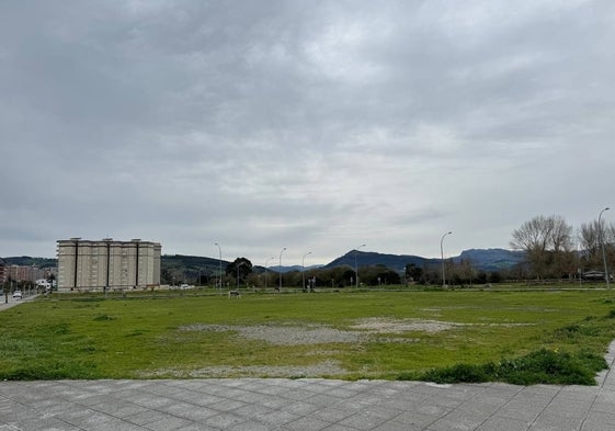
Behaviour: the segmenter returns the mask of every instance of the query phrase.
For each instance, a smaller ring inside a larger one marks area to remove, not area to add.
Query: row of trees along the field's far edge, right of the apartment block
[[[446,283],[471,286],[504,280],[572,280],[589,273],[604,276],[603,259],[608,268],[615,261],[615,225],[595,219],[574,229],[559,215],[538,215],[524,222],[512,232],[510,246],[524,252],[525,263],[486,272],[475,268],[471,261],[448,259],[444,262]],[[280,285],[281,276],[284,287],[309,290],[356,285],[356,274],[351,266],[309,269],[305,272],[291,271],[280,274],[262,266],[253,266],[247,258],[237,258],[226,264],[223,272],[221,286],[229,288],[237,285],[274,288]],[[611,269],[608,274],[613,274]],[[195,282],[197,285],[220,286],[217,266],[193,269],[181,275],[172,270],[162,271],[163,283],[175,284],[180,280]],[[442,266],[428,262],[423,265],[408,263],[405,270],[395,271],[385,265],[364,265],[358,268],[358,284],[366,287],[400,284],[439,285],[442,284]]]

